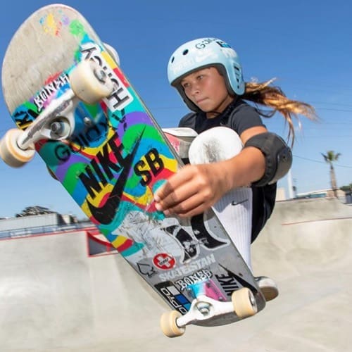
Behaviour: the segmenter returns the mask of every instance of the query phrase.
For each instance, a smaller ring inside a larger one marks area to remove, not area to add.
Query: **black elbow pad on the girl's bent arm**
[[[263,187],[277,182],[289,172],[292,165],[292,152],[284,139],[275,133],[265,132],[251,137],[246,146],[258,148],[265,156],[265,173],[263,177],[253,182],[253,186]]]

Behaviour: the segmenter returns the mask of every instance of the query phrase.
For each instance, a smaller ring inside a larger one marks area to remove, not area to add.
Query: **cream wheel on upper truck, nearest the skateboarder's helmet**
[[[77,98],[88,104],[98,103],[113,92],[111,79],[91,60],[78,63],[70,73],[70,84]]]

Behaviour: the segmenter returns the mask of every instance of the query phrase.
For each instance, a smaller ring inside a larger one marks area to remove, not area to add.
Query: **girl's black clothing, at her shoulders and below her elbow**
[[[201,111],[199,113],[188,113],[179,123],[179,127],[191,127],[198,134],[217,126],[230,127],[239,135],[251,127],[265,127],[256,109],[241,99],[232,102],[223,113],[215,118],[208,119],[206,113]],[[253,242],[272,214],[275,206],[277,184],[268,184],[264,187],[252,186],[251,188],[253,192]]]

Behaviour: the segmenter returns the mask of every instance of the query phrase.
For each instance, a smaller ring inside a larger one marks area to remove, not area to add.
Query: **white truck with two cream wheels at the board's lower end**
[[[186,314],[182,315],[177,310],[163,313],[160,320],[163,333],[167,337],[179,337],[184,334],[186,325],[189,324],[203,325],[229,314],[235,314],[238,318],[244,319],[255,315],[258,311],[256,298],[247,287],[233,291],[231,301],[222,301],[219,298],[222,297],[214,299],[202,293],[197,294]]]

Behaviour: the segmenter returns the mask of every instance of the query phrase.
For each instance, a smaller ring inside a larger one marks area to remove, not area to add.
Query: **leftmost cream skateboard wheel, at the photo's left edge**
[[[8,130],[0,141],[0,156],[12,168],[20,168],[34,157],[34,144],[27,150],[20,149],[18,146],[17,141],[21,134],[23,134],[22,130],[13,128]]]

